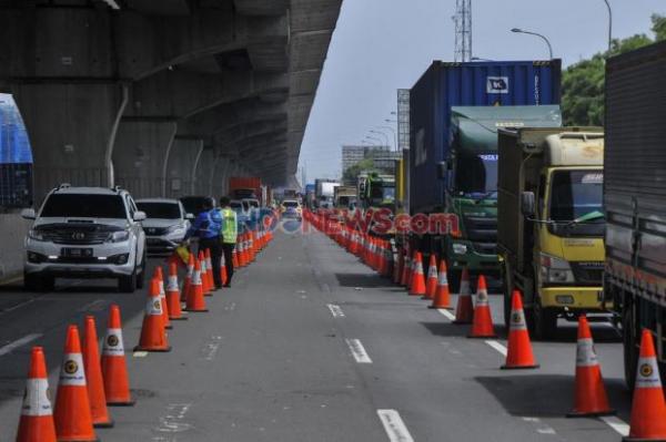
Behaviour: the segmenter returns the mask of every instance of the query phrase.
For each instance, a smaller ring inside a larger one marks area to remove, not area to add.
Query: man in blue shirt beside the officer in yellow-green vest
[[[192,236],[199,238],[199,250],[211,250],[211,261],[213,265],[213,280],[215,288],[222,287],[222,276],[220,275],[220,261],[222,259],[222,245],[220,244],[220,233],[222,230],[222,216],[220,210],[213,207],[213,198],[208,198],[203,203],[203,210],[196,216],[194,223],[188,230],[185,239]]]

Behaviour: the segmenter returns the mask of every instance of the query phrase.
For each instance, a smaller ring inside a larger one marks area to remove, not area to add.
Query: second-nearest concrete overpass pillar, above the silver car
[[[175,122],[123,121],[113,150],[115,183],[135,198],[167,196]]]

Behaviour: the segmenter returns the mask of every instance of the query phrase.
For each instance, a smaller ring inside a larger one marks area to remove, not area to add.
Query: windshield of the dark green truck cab
[[[497,154],[461,154],[456,165],[456,191],[471,198],[496,197]]]

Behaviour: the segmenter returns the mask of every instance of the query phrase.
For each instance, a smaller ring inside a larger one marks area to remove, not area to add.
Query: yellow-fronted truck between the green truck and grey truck
[[[523,294],[537,339],[555,336],[558,317],[607,317],[603,130],[501,130],[498,145],[497,249],[506,327],[514,289]]]

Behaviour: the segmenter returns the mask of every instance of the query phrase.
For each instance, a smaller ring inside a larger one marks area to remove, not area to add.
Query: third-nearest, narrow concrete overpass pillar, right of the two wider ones
[[[167,165],[167,196],[180,198],[194,193],[192,173],[203,150],[202,140],[175,138]]]

